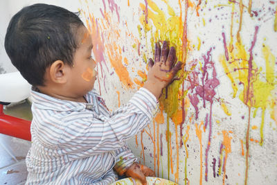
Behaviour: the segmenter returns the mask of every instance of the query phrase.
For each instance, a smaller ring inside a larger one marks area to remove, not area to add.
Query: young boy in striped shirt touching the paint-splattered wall
[[[175,49],[156,44],[144,87],[109,113],[92,90],[97,75],[92,47],[78,15],[64,8],[35,4],[10,21],[5,49],[33,85],[26,184],[111,184],[116,173],[146,184],[145,176],[154,175],[136,163],[125,141],[150,123],[161,90],[181,68],[181,62],[174,67]]]

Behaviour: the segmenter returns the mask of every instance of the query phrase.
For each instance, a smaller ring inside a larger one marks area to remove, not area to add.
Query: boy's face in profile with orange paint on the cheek
[[[84,26],[78,31],[78,48],[73,55],[73,67],[71,68],[71,89],[77,96],[84,96],[91,91],[96,80],[96,62],[91,58],[91,35]]]

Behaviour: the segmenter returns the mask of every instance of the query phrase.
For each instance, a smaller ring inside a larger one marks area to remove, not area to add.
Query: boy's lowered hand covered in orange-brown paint
[[[134,163],[125,172],[127,177],[132,177],[134,179],[139,179],[143,185],[147,184],[146,176],[154,177],[155,173],[153,170],[142,164]]]

